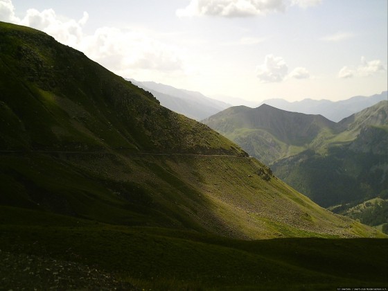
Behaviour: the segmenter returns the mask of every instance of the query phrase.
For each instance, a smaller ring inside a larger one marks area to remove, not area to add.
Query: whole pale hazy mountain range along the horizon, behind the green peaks
[[[258,107],[266,104],[272,107],[283,109],[289,112],[299,112],[304,114],[320,114],[330,121],[341,121],[343,118],[351,116],[362,109],[371,107],[376,103],[387,100],[388,92],[373,96],[355,96],[346,100],[312,100],[303,99],[301,101],[289,102],[281,98],[267,99],[262,103],[244,100],[242,98],[233,98],[230,96],[216,96],[209,98],[197,91],[177,89],[175,87],[160,84],[157,82],[139,82],[134,79],[126,79],[134,85],[150,91],[161,103],[162,106],[177,113],[184,114],[196,121],[202,121],[224,109],[234,106]],[[224,100],[226,102],[220,101]]]

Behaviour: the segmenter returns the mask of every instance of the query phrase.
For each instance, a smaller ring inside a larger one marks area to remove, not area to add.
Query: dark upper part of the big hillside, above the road
[[[1,148],[242,154],[82,53],[8,27],[1,31]]]

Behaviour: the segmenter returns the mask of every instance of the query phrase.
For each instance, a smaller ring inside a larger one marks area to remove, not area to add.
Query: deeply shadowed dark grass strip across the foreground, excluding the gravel
[[[245,241],[10,207],[1,207],[0,213],[2,252],[73,262],[114,274],[114,280],[140,290],[277,290],[286,285],[294,290],[334,290],[388,283],[385,239]],[[7,283],[5,270],[0,272]],[[12,281],[14,285],[4,286],[27,287],[23,284],[28,274],[18,274],[21,278]],[[75,287],[87,285],[80,282]]]

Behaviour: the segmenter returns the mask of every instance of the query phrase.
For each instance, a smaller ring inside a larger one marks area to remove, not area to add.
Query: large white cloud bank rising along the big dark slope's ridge
[[[89,19],[87,12],[76,20],[57,15],[53,9],[42,12],[28,9],[24,18],[19,19],[15,17],[12,1],[0,0],[0,19],[42,30],[115,72],[135,69],[174,71],[184,66],[177,48],[146,33],[104,27],[98,28],[93,35],[85,35],[83,26]]]

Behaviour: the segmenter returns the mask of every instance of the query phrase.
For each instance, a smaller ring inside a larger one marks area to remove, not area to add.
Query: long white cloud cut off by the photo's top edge
[[[191,0],[186,8],[178,9],[178,17],[221,16],[250,17],[269,12],[283,12],[289,6],[308,8],[321,0]]]

